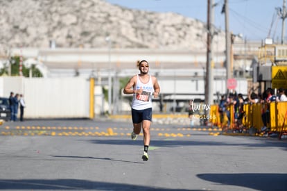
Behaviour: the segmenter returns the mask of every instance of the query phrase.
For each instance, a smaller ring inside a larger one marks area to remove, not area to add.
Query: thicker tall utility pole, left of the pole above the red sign
[[[214,74],[213,74],[213,49],[212,49],[212,41],[214,35],[214,11],[213,11],[213,0],[207,0],[207,74],[205,76],[205,100],[208,101],[209,106],[214,103],[214,91],[213,91],[213,82],[214,82]]]

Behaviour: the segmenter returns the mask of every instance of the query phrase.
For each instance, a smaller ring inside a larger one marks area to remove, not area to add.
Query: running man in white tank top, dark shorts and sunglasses
[[[133,94],[132,99],[132,124],[134,129],[131,134],[132,140],[137,139],[143,128],[143,156],[148,160],[148,147],[150,145],[150,124],[152,122],[152,94],[159,96],[159,83],[155,76],[148,74],[148,61],[139,62],[139,74],[132,76],[123,89],[124,94]]]

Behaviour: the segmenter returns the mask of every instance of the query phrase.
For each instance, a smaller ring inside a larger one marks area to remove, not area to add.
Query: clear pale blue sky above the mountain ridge
[[[207,0],[106,0],[107,2],[139,10],[160,13],[173,12],[207,22]],[[247,40],[263,40],[268,37],[281,39],[282,19],[276,8],[283,7],[284,0],[228,0],[229,31],[243,34]],[[225,15],[221,13],[224,0],[214,0],[214,24],[225,30]],[[287,19],[286,19],[287,21]],[[287,24],[285,25],[287,26]],[[287,30],[285,30],[287,32]],[[286,33],[285,32],[285,33]]]

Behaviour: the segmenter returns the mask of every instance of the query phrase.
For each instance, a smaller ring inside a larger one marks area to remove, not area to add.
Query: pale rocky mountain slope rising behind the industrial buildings
[[[115,6],[103,0],[0,1],[0,43],[10,47],[107,47],[205,51],[204,22],[175,13]],[[218,31],[219,49],[225,33]],[[216,42],[215,42],[216,43]]]

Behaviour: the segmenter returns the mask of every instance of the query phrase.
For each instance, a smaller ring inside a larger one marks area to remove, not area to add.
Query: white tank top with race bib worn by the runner
[[[142,89],[142,94],[134,94],[132,98],[132,108],[135,110],[144,110],[147,108],[152,108],[152,94],[155,92],[153,89],[153,81],[149,75],[148,83],[142,83],[137,75],[137,84],[134,90]]]

